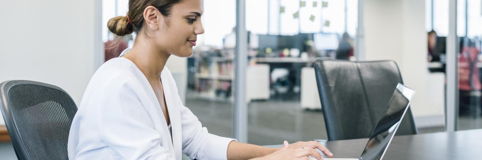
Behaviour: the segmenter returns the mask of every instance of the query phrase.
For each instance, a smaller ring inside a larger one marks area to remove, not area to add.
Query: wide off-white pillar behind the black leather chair
[[[424,0],[364,0],[366,60],[394,60],[404,83],[415,89],[415,117],[443,115],[428,103],[427,33]],[[439,101],[444,101],[440,99]]]

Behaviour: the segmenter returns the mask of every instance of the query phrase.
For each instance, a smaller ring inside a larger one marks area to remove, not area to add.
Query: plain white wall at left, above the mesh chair
[[[2,1],[0,81],[53,84],[67,91],[79,104],[96,66],[104,58],[101,34],[94,30],[101,28],[98,3],[97,0]]]

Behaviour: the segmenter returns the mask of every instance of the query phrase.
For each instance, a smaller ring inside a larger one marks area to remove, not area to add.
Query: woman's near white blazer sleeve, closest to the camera
[[[102,140],[125,160],[174,160],[161,146],[161,135],[138,95],[139,86],[129,76],[111,76],[103,85],[99,131]],[[112,82],[112,80],[109,80]]]

